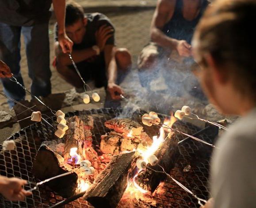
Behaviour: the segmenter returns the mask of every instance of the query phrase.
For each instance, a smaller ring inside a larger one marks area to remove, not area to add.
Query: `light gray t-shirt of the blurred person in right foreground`
[[[256,108],[219,138],[212,158],[214,208],[256,208]]]

